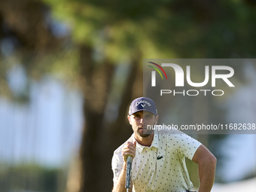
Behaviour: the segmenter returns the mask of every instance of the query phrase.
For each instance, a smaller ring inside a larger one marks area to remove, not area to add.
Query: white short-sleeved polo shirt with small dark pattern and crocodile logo
[[[126,142],[134,142],[134,133]],[[126,144],[123,143],[123,145]],[[122,148],[114,151],[112,170],[114,184],[123,167]],[[136,157],[132,164],[133,191],[170,191],[193,190],[185,157],[192,160],[200,142],[179,131],[154,134],[150,147],[136,144]]]

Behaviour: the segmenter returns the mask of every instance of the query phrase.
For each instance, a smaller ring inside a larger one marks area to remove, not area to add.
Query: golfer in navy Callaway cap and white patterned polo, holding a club
[[[185,157],[198,164],[199,192],[211,191],[216,158],[200,142],[184,133],[157,133],[156,130],[147,129],[148,125],[156,125],[158,120],[153,100],[146,97],[133,100],[128,120],[133,128],[133,135],[114,151],[112,192],[126,191],[127,156],[133,157],[130,191],[193,190]]]

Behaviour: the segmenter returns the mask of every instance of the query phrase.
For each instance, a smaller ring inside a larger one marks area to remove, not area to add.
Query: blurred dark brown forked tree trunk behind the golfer
[[[81,82],[84,90],[84,131],[80,150],[81,187],[84,191],[110,191],[113,182],[111,172],[111,157],[114,149],[124,142],[132,133],[130,126],[124,123],[127,114],[126,108],[132,100],[133,84],[138,75],[140,56],[131,63],[125,89],[121,97],[121,104],[117,120],[106,124],[104,120],[105,107],[114,76],[114,65],[108,60],[103,65],[93,64],[93,50],[82,45],[80,66]],[[142,94],[137,91],[138,96]]]

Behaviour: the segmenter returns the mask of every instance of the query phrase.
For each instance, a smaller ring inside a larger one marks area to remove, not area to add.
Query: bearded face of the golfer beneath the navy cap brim
[[[133,127],[133,132],[137,136],[148,137],[154,130],[147,129],[148,125],[157,124],[158,115],[152,114],[149,111],[138,111],[135,114],[128,116],[128,120]]]

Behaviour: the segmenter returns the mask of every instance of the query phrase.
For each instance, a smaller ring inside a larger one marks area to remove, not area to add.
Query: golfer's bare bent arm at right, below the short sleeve
[[[210,192],[215,180],[216,157],[205,146],[200,145],[192,160],[198,164],[199,192]]]

